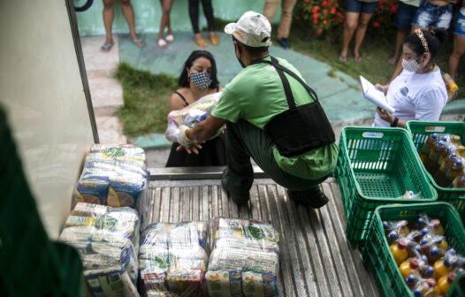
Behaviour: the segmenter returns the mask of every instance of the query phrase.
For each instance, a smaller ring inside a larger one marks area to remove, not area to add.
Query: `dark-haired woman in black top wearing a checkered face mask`
[[[205,95],[217,93],[217,64],[206,50],[194,50],[182,69],[178,80],[179,89],[170,97],[170,111],[182,110]],[[202,143],[194,154],[181,149],[179,143],[172,144],[166,167],[183,166],[224,166],[226,164],[225,140],[220,135]],[[178,149],[179,147],[179,149]]]

